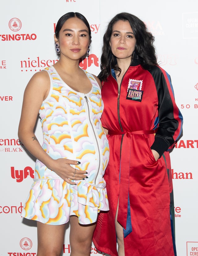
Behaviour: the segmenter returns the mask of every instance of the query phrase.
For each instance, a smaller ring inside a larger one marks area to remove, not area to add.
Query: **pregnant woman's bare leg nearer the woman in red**
[[[93,232],[96,223],[80,225],[78,217],[70,216],[71,256],[90,256]]]

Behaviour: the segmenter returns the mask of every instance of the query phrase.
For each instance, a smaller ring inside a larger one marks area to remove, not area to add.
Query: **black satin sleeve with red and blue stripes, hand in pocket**
[[[149,72],[153,76],[157,89],[159,116],[159,126],[151,149],[156,150],[161,157],[164,151],[167,151],[175,143],[173,137],[179,126],[179,122],[174,116],[174,108],[177,108],[177,106],[172,100],[174,99],[174,94],[171,90],[172,85],[165,78],[161,69],[155,66]]]

